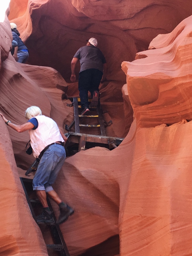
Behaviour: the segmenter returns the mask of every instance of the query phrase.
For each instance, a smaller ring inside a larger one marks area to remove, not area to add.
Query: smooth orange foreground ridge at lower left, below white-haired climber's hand
[[[0,255],[47,256],[19,180],[8,129],[0,118]]]

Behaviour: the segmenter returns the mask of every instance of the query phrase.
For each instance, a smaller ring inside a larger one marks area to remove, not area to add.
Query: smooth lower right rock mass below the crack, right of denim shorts
[[[135,120],[115,150],[66,160],[55,189],[76,210],[61,227],[72,255],[116,232],[122,256],[192,253],[191,131],[192,122],[137,128]]]

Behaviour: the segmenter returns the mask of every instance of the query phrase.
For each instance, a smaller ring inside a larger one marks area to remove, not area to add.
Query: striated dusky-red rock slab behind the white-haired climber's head
[[[62,101],[63,91],[56,88],[66,88],[67,83],[56,70],[17,63],[10,54],[2,63],[0,81],[1,111],[13,123],[25,123],[25,110],[31,105],[39,106],[42,114],[53,118],[60,127],[72,122],[73,108],[66,105],[71,101]],[[29,134],[19,134],[12,129],[9,132],[17,166],[26,170],[33,161],[33,157],[25,153]]]

